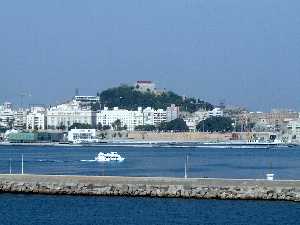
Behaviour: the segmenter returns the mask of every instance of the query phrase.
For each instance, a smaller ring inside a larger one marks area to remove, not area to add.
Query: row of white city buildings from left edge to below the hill
[[[89,124],[91,127],[112,126],[116,120],[120,120],[121,126],[128,130],[134,130],[140,125],[157,126],[162,122],[168,122],[178,118],[179,108],[171,105],[166,110],[150,107],[137,110],[125,110],[114,107],[93,111],[90,104],[98,100],[98,97],[76,96],[72,101],[52,106],[31,107],[30,109],[13,110],[10,103],[0,106],[0,126],[26,129],[26,130],[55,130],[67,129],[74,123]]]

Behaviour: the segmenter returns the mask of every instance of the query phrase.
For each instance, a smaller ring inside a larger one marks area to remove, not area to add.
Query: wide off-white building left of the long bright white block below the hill
[[[74,123],[96,126],[96,112],[91,109],[81,108],[78,101],[50,107],[47,110],[48,129],[68,128]]]

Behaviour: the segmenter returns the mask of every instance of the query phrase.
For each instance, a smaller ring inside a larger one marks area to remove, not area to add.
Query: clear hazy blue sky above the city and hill
[[[0,102],[152,80],[214,104],[300,111],[299,12],[299,0],[1,1]]]

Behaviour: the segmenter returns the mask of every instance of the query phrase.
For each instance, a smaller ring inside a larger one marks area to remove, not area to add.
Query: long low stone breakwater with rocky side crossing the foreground
[[[300,181],[0,175],[0,192],[300,201]]]

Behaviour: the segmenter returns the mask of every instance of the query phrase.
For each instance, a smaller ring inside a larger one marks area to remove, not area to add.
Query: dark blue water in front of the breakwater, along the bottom
[[[300,204],[0,194],[1,225],[300,224]]]

